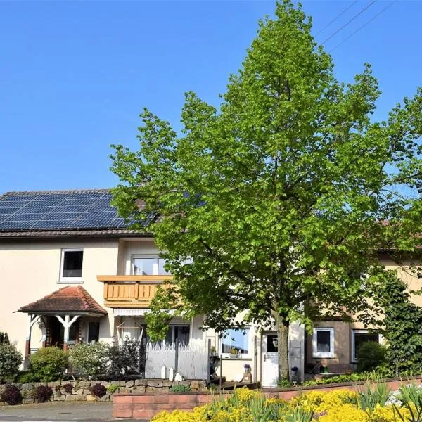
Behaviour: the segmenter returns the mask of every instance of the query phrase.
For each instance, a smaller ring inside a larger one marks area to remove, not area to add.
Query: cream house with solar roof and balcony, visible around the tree
[[[151,299],[172,276],[153,238],[128,230],[110,200],[106,189],[0,196],[0,331],[7,331],[26,357],[49,345],[67,349],[79,342],[146,338]],[[203,331],[202,324],[201,316],[174,317],[165,341],[206,350],[211,340],[221,358],[217,374],[227,381],[241,378],[248,364],[254,381],[276,385],[277,342],[271,327],[229,330],[221,338]],[[316,321],[309,335],[294,323],[290,367],[297,366],[300,376],[306,366],[318,364],[342,372],[355,362],[359,344],[373,339],[358,324]]]

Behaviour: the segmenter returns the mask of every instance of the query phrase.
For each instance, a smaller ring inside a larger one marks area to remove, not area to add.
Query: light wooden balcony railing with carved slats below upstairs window
[[[104,305],[148,309],[158,286],[172,276],[97,276],[104,283]]]

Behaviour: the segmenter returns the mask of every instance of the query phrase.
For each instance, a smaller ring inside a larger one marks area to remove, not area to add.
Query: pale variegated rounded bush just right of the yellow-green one
[[[87,376],[106,373],[110,356],[110,345],[103,342],[79,343],[69,350],[69,359],[74,369]]]

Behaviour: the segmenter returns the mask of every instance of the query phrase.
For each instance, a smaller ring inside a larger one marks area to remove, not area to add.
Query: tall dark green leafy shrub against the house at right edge
[[[422,370],[422,309],[409,300],[405,284],[391,274],[376,292],[383,307],[385,359],[397,372]]]

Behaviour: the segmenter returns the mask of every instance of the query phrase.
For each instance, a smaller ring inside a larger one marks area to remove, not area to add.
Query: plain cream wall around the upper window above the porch
[[[116,274],[117,240],[84,241],[2,241],[0,243],[0,331],[7,331],[21,352],[25,352],[27,314],[17,311],[21,306],[39,300],[68,283],[60,283],[62,248],[83,248],[82,286],[103,306],[103,283],[98,274]],[[113,314],[108,322],[101,321],[101,338],[113,335]],[[83,324],[82,324],[83,325]],[[41,331],[34,326],[31,347],[41,346]]]

